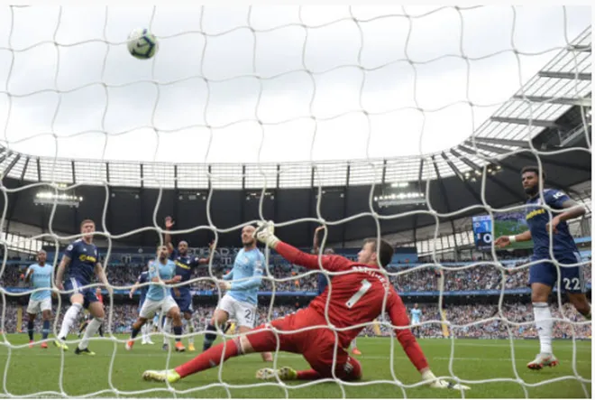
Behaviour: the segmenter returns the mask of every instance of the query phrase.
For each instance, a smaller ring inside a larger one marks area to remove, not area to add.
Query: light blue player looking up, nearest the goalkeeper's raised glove
[[[228,320],[233,319],[237,321],[240,333],[254,328],[257,295],[265,263],[264,255],[256,247],[256,239],[253,237],[255,230],[252,225],[246,225],[242,229],[243,248],[235,256],[232,270],[225,274],[223,281],[219,283],[219,288],[227,293],[219,302],[211,323],[206,327],[209,332],[205,335],[203,351],[209,349],[216,339],[215,325],[223,328]],[[272,361],[272,355],[262,353],[262,359]]]

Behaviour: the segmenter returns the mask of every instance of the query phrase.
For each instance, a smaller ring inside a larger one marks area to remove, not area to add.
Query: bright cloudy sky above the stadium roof
[[[11,148],[178,163],[440,151],[471,135],[557,52],[548,50],[590,24],[590,9],[575,6],[13,12],[0,11],[0,46],[14,50],[0,50],[10,94],[0,96],[0,126],[8,119]],[[124,42],[145,26],[160,51],[136,60]],[[517,56],[513,43],[531,55]]]

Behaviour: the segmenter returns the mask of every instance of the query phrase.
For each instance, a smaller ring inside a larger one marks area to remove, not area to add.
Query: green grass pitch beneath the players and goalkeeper
[[[36,339],[39,340],[39,334]],[[124,336],[119,336],[124,339]],[[13,345],[24,345],[27,336],[7,335],[6,339]],[[153,336],[155,345],[142,346],[137,342],[133,351],[126,351],[123,343],[111,340],[93,340],[89,346],[96,352],[95,357],[76,356],[70,345],[70,350],[64,353],[63,388],[71,396],[87,395],[114,388],[124,392],[120,397],[167,397],[173,398],[174,394],[167,391],[165,384],[148,383],[142,380],[142,371],[145,369],[163,369],[166,367],[168,352],[160,347],[161,337]],[[451,354],[451,340],[420,340],[422,349],[436,376],[449,375],[449,359]],[[4,343],[5,344],[5,343]],[[197,349],[200,349],[201,339],[197,338]],[[409,363],[405,353],[394,341],[393,367],[396,377],[405,385],[415,384],[419,379],[416,369]],[[363,380],[358,386],[343,385],[344,395],[353,398],[397,398],[404,397],[402,390],[389,382],[393,381],[390,373],[390,339],[389,338],[362,338],[358,339],[358,347],[363,355],[358,359],[362,362]],[[554,340],[554,350],[560,359],[560,365],[554,368],[545,368],[541,371],[531,371],[526,368],[526,363],[533,359],[538,351],[536,340],[516,340],[514,342],[515,363],[519,377],[527,384],[534,385],[548,379],[558,379],[555,382],[541,386],[526,387],[529,397],[585,397],[581,384],[573,377],[572,371],[572,341]],[[110,363],[115,351],[114,365],[110,375]],[[28,347],[12,349],[6,370],[8,349],[0,346],[0,372],[5,376],[3,392],[11,395],[31,395],[35,392],[59,392],[59,376],[61,369],[61,355],[57,348],[50,344],[49,349],[38,346],[33,349]],[[171,353],[169,366],[193,358],[194,353]],[[511,347],[508,340],[455,340],[453,355],[453,372],[463,379],[479,380],[494,378],[516,378],[511,360]],[[279,353],[279,367],[291,366],[306,368],[306,361],[299,355]],[[590,379],[591,376],[591,346],[590,341],[576,342],[576,369],[581,377]],[[254,378],[258,368],[264,367],[259,355],[249,355],[243,358],[233,358],[224,364],[222,379],[229,384],[232,397],[243,398],[279,398],[285,397],[286,392],[280,386],[256,386],[261,383]],[[5,375],[4,375],[5,374]],[[203,373],[187,377],[174,385],[178,391],[189,391],[203,387],[202,390],[177,393],[177,397],[227,397],[223,386],[217,386],[219,369],[213,368]],[[372,383],[382,380],[383,383]],[[292,398],[341,398],[342,386],[333,383],[317,383],[304,386],[305,382],[289,382],[288,396]],[[362,385],[363,384],[363,385]],[[208,386],[208,387],[206,387]],[[301,386],[301,387],[294,387]],[[525,397],[523,386],[517,382],[489,382],[470,384],[471,391],[466,397]],[[589,397],[591,396],[590,383],[585,384]],[[206,387],[206,388],[205,388]],[[151,392],[132,394],[130,392],[150,390]],[[435,398],[461,397],[457,391],[441,391],[427,387],[413,387],[406,389],[407,397]],[[0,397],[3,394],[0,393]],[[43,397],[54,397],[46,394]],[[114,397],[114,392],[104,392],[98,396]]]

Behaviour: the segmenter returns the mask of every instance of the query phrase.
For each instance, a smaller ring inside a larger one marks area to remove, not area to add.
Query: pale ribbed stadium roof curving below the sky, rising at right
[[[580,121],[584,116],[590,121],[591,106],[590,35],[590,28],[581,33],[474,135],[440,153],[368,161],[206,165],[54,159],[3,147],[0,171],[3,178],[21,181],[177,189],[257,189],[265,185],[265,178],[269,188],[426,181],[453,175],[464,180],[504,154],[528,149],[530,141],[547,130],[558,135],[560,147],[584,135],[586,125]],[[572,108],[572,120],[564,120]]]

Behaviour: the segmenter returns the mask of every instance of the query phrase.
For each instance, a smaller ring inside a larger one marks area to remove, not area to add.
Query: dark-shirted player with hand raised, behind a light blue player
[[[208,258],[188,256],[188,242],[185,240],[180,241],[178,243],[178,248],[176,249],[171,243],[171,235],[169,235],[169,229],[171,229],[173,226],[174,221],[171,219],[171,217],[167,217],[165,219],[166,233],[163,241],[168,247],[169,259],[176,264],[176,275],[182,278],[180,281],[181,285],[173,287],[171,289],[171,294],[173,295],[176,303],[178,303],[179,311],[183,312],[184,314],[184,325],[188,328],[188,332],[194,333],[195,330],[197,330],[197,326],[195,325],[195,321],[192,320],[192,313],[194,312],[192,309],[192,293],[190,293],[190,286],[184,283],[188,282],[192,278],[194,268],[196,268],[198,265],[208,264]],[[169,331],[169,327],[171,327],[171,321],[169,321],[169,318],[166,319],[165,326],[166,328],[164,328],[164,330]],[[164,349],[167,349],[167,343],[167,337],[164,336]],[[188,351],[194,350],[194,336],[191,335],[188,338]]]

